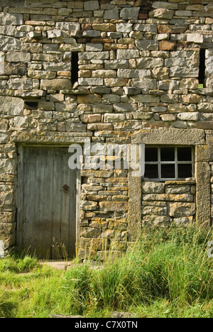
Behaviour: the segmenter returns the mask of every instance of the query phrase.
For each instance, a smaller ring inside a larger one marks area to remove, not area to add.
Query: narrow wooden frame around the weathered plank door
[[[70,143],[72,144],[72,143]],[[32,147],[32,148],[67,148],[67,153],[68,153],[68,148],[69,145],[67,144],[21,144],[19,143],[17,145],[17,150],[18,150],[18,172],[17,172],[17,226],[16,226],[16,248],[18,251],[21,251],[22,248],[22,243],[23,243],[23,196],[18,193],[19,192],[19,180],[18,180],[18,174],[19,172],[23,173],[23,148],[25,146],[27,147]],[[23,176],[22,176],[23,178]],[[81,177],[81,170],[77,170],[77,179],[76,179],[76,189],[77,189],[77,194],[76,194],[76,235],[75,235],[75,253],[77,255],[77,251],[80,248],[80,201],[81,201],[81,184],[82,184],[82,177]]]

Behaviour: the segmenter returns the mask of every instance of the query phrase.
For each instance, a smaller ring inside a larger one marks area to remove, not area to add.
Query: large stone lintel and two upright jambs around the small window
[[[213,140],[212,140],[213,141]],[[207,145],[202,129],[159,128],[143,129],[131,136],[132,144],[145,145],[190,145],[195,147],[196,223],[211,226],[209,162],[213,161],[213,144]],[[133,177],[129,172],[129,240],[135,241],[142,228],[142,177]]]

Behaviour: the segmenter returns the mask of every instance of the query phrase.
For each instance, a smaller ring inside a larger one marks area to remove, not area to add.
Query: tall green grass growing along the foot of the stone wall
[[[141,317],[212,317],[212,230],[148,229],[127,253],[68,271],[40,267],[34,258],[0,261],[0,316],[53,314]],[[114,245],[112,245],[114,248]]]

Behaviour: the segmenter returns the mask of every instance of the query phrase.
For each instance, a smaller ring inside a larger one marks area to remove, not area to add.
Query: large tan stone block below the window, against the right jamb
[[[174,217],[193,216],[196,212],[195,203],[168,203],[168,215]]]

